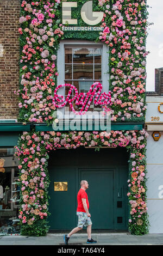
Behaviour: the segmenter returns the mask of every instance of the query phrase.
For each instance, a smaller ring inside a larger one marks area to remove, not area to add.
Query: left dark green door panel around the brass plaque
[[[49,185],[48,217],[51,230],[71,229],[76,225],[76,169],[72,166],[49,168],[51,183]],[[54,182],[67,182],[67,191],[54,191]]]

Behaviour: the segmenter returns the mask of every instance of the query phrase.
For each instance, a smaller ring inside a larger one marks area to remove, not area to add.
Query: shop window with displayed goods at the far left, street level
[[[0,234],[20,233],[18,160],[14,149],[0,149]]]

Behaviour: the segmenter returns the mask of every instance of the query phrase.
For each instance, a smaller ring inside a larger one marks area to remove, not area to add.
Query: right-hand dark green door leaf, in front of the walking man
[[[93,229],[114,229],[113,170],[80,170],[81,180],[87,180]]]

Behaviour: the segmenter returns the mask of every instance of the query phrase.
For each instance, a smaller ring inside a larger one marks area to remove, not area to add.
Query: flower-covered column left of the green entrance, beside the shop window
[[[48,231],[48,154],[44,143],[44,138],[36,133],[24,132],[16,147],[20,159],[21,208],[18,217],[22,235],[41,236]]]

